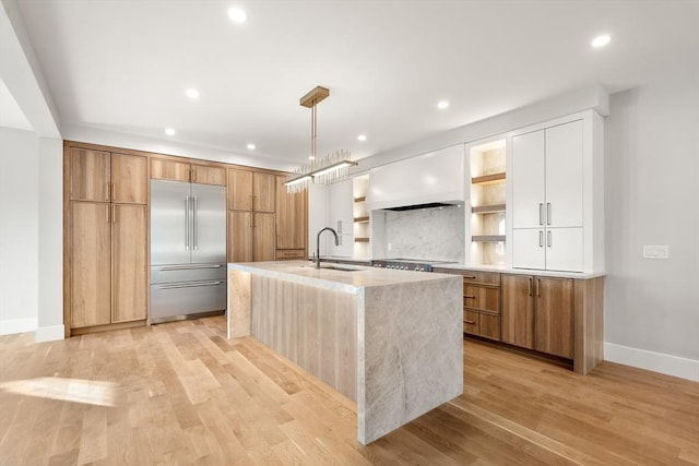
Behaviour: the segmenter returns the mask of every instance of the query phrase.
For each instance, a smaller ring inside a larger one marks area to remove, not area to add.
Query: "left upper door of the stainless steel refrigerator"
[[[189,199],[190,183],[151,180],[151,265],[190,262]]]

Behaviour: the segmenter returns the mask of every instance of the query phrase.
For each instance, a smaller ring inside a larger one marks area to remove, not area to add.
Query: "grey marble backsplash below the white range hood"
[[[459,262],[464,259],[463,206],[386,213],[389,258]]]

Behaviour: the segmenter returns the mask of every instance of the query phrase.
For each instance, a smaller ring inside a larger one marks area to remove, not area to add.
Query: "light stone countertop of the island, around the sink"
[[[323,262],[321,265],[322,268],[316,268],[311,261],[244,262],[229,263],[228,270],[345,292],[356,292],[358,288],[433,282],[453,277],[453,275],[447,274],[339,265],[328,262]],[[344,270],[330,268],[333,266]]]

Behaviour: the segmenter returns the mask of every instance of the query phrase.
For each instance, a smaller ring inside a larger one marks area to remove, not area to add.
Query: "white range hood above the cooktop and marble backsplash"
[[[430,208],[465,201],[463,144],[384,165],[369,172],[368,211]]]

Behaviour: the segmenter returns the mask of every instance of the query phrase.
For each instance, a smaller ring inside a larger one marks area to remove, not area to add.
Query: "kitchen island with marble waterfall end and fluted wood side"
[[[462,278],[228,264],[228,338],[251,335],[356,402],[368,444],[463,393]]]

